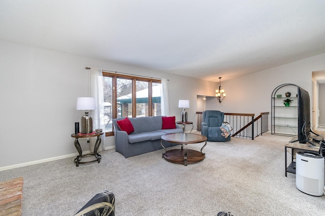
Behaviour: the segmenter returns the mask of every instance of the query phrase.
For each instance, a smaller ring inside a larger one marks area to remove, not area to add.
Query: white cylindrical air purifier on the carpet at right
[[[306,194],[323,195],[324,157],[311,152],[296,154],[296,185]]]

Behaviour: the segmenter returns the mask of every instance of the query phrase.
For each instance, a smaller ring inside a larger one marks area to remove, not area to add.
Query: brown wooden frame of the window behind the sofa
[[[161,84],[161,80],[160,79],[154,79],[154,78],[145,78],[145,77],[140,77],[140,76],[131,76],[131,75],[124,75],[124,74],[117,74],[117,73],[110,73],[110,72],[105,72],[103,71],[103,78],[104,77],[111,77],[112,78],[112,118],[117,118],[117,79],[121,78],[121,79],[129,79],[132,80],[132,117],[136,117],[137,116],[137,104],[136,104],[136,83],[137,81],[145,81],[148,82],[148,100],[149,100],[149,116],[152,116],[153,112],[152,112],[152,108],[153,108],[153,104],[152,104],[152,84],[153,83],[160,83]],[[105,133],[106,137],[109,136],[114,136],[114,127],[113,130],[111,132],[106,132]]]

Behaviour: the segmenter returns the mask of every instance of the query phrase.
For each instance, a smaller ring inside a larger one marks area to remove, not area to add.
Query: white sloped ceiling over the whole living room
[[[218,82],[325,53],[325,1],[1,0],[0,39]]]

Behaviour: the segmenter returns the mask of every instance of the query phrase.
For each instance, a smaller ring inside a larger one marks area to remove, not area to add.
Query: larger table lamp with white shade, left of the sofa
[[[80,127],[81,134],[92,133],[92,116],[89,115],[88,110],[96,109],[95,98],[81,97],[77,98],[77,110],[85,110],[85,114],[81,116]]]

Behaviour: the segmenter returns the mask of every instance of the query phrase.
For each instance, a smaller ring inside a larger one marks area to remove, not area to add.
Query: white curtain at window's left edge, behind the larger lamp
[[[98,151],[105,150],[105,122],[104,122],[104,85],[103,71],[98,68],[89,70],[89,97],[95,98],[96,110],[91,110],[93,131],[102,128],[104,134],[101,136],[102,142]],[[93,151],[96,139],[90,139],[90,151]]]

